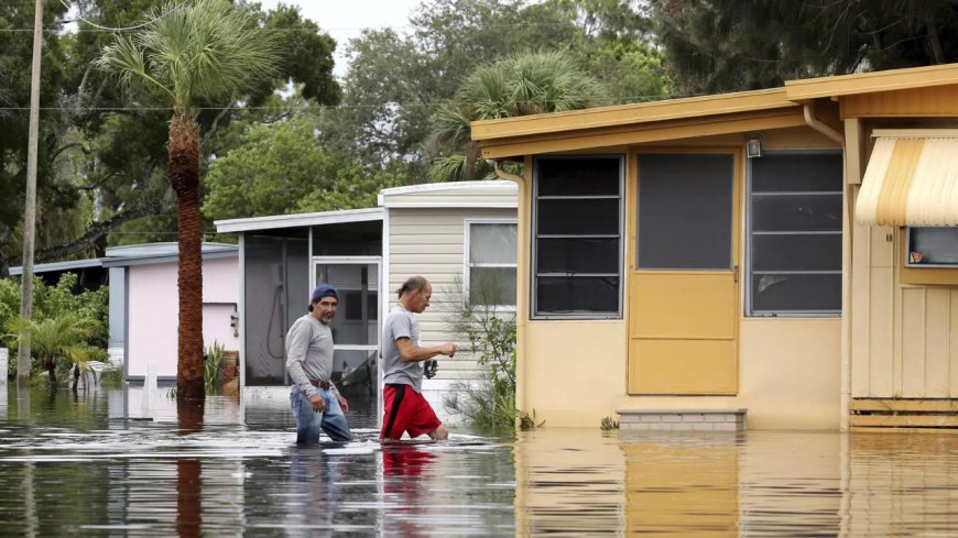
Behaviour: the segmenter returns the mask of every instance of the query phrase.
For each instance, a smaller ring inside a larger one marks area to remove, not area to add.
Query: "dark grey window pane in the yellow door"
[[[727,270],[732,156],[639,157],[639,267]]]

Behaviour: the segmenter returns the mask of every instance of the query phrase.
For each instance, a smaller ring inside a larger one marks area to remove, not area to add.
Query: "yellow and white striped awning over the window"
[[[958,130],[875,130],[856,204],[872,226],[958,226]]]

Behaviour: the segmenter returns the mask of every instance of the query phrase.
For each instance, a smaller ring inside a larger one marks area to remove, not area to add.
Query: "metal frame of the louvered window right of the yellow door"
[[[775,156],[775,155],[841,155],[841,150],[839,149],[792,149],[792,150],[768,150],[764,153],[765,156]],[[754,245],[752,240],[754,238],[754,233],[752,231],[752,162],[754,158],[764,158],[763,157],[753,157],[745,160],[745,210],[744,210],[744,239],[745,239],[745,252],[744,252],[744,278],[743,278],[743,288],[744,288],[744,317],[747,318],[838,318],[841,317],[841,306],[834,310],[755,310],[753,307],[753,294],[752,294],[752,278],[756,274],[752,270],[752,253],[754,250]],[[845,182],[845,169],[841,171],[841,180]],[[788,196],[788,195],[819,195],[819,196],[838,196],[841,200],[841,204],[845,204],[845,193],[843,185],[839,185],[838,190],[808,190],[808,191],[782,191],[782,193],[770,193],[762,196]],[[808,231],[808,232],[763,232],[760,234],[763,235],[838,235],[839,238],[845,233],[845,230],[839,229],[838,231]],[[788,274],[788,275],[838,275],[841,277],[841,262],[839,261],[839,267],[835,271],[760,271],[758,274]]]

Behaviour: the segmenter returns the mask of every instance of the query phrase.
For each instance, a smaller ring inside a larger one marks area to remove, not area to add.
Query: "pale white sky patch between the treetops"
[[[276,7],[279,0],[259,0],[263,10]],[[422,0],[283,0],[287,6],[298,6],[300,13],[325,30],[336,40],[336,67],[334,73],[346,74],[344,53],[350,37],[366,28],[394,28],[402,31],[409,24],[410,12]]]

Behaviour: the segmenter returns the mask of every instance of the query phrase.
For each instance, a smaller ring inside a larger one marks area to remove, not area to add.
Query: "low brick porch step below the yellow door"
[[[741,431],[748,409],[617,409],[620,430]]]

